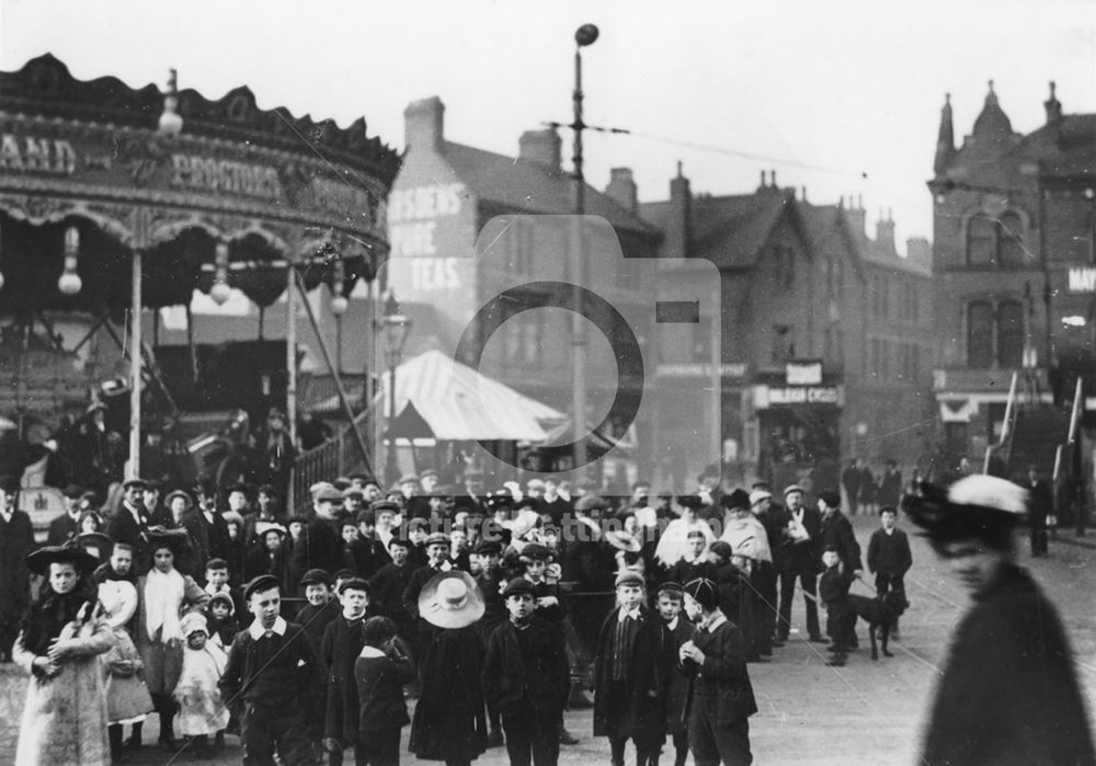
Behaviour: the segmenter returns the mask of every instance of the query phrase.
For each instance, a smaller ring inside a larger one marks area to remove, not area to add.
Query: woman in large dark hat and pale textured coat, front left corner
[[[100,654],[114,643],[99,619],[90,574],[98,561],[79,546],[26,557],[46,578],[23,616],[12,659],[31,675],[15,751],[18,764],[110,764]]]

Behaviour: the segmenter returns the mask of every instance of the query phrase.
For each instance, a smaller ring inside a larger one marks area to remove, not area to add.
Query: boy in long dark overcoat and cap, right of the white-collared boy
[[[342,614],[323,631],[320,660],[327,668],[327,717],[323,724],[323,746],[328,763],[341,766],[343,751],[357,743],[358,704],[354,681],[354,662],[365,647],[362,626],[369,606],[369,583],[351,578],[340,583],[339,603]]]

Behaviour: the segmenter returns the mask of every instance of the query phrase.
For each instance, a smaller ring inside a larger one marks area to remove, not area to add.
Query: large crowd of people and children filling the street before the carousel
[[[163,750],[208,756],[228,733],[244,763],[342,764],[353,751],[395,764],[410,724],[420,758],[467,764],[504,745],[512,764],[541,766],[578,741],[563,712],[580,684],[613,764],[629,740],[638,764],[667,745],[677,766],[689,753],[750,764],[747,665],[791,637],[797,585],[804,638],[829,645],[827,664],[857,648],[849,588],[865,559],[836,490],[808,502],[796,484],[672,496],[638,483],[610,499],[552,478],[484,492],[473,472],[457,488],[429,471],[387,491],[368,476],[321,482],[289,514],[271,485],[161,498],[132,479],[95,528],[84,493],[66,490],[36,547],[18,484],[0,484],[0,660],[31,674],[20,763],[116,763],[156,712]],[[917,518],[947,542],[982,540],[986,513],[946,534]],[[904,602],[913,561],[898,515],[879,508],[866,563],[877,594]],[[607,596],[586,645],[578,594]]]

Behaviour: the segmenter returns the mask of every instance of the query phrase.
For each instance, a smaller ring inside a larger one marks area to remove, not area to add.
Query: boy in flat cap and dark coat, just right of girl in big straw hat
[[[483,695],[498,700],[512,766],[555,766],[558,722],[567,706],[571,666],[560,626],[536,614],[533,583],[516,578],[503,591],[509,619],[491,633]]]

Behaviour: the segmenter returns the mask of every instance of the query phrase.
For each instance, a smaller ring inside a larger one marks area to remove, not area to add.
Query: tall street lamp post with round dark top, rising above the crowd
[[[574,122],[571,129],[574,133],[574,155],[572,156],[574,194],[574,222],[571,227],[571,281],[573,284],[585,287],[586,285],[586,260],[585,247],[582,232],[582,216],[585,213],[585,178],[582,172],[582,130],[586,127],[582,119],[582,49],[587,45],[593,45],[597,39],[598,30],[593,24],[583,24],[574,33],[574,91],[571,101],[574,105]],[[581,469],[586,462],[585,432],[586,432],[586,327],[583,317],[582,290],[574,290],[573,305],[571,307],[571,346],[574,348],[572,359],[572,401],[574,411],[574,469]]]

